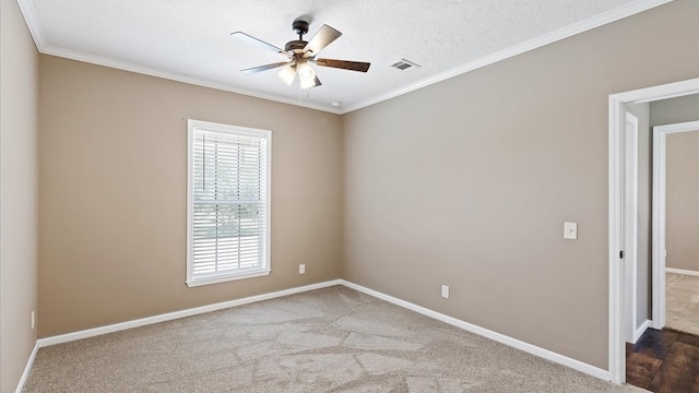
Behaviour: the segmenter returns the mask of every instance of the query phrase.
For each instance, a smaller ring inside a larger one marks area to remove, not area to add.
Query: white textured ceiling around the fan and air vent
[[[600,26],[670,0],[17,0],[40,52],[343,114]],[[317,68],[322,86],[287,86],[283,61],[235,39],[277,47],[310,19],[343,33],[324,58],[368,61],[365,73]],[[401,59],[420,68],[399,71]],[[341,103],[333,107],[332,103]]]

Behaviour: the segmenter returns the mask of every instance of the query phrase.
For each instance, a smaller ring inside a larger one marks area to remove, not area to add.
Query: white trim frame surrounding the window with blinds
[[[237,272],[230,272],[225,274],[216,274],[206,277],[193,277],[193,142],[194,142],[194,131],[203,130],[203,131],[213,131],[213,132],[223,132],[235,135],[245,135],[245,136],[254,136],[263,139],[266,142],[266,200],[264,203],[264,209],[266,210],[265,214],[265,227],[264,227],[264,236],[265,236],[265,263],[264,267],[260,269],[247,269]],[[187,281],[186,284],[188,287],[196,287],[201,285],[209,284],[217,284],[225,283],[236,279],[245,279],[252,277],[261,277],[269,275],[272,270],[272,258],[271,258],[271,190],[272,190],[272,131],[269,130],[259,130],[252,128],[245,128],[238,126],[229,126],[215,123],[210,121],[201,121],[201,120],[187,120]]]

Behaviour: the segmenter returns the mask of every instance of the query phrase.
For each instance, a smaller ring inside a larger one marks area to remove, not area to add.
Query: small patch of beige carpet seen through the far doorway
[[[665,273],[665,326],[699,335],[699,276]]]

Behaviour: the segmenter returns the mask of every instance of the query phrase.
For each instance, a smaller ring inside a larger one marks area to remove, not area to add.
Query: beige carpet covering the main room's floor
[[[42,348],[24,392],[644,392],[342,286]]]

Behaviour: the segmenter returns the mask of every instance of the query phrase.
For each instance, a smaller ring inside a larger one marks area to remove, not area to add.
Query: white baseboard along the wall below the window
[[[185,318],[185,317],[197,315],[197,314],[201,314],[201,313],[205,313],[205,312],[218,311],[218,310],[227,309],[227,308],[230,308],[230,307],[249,305],[249,303],[252,303],[252,302],[256,302],[256,301],[274,299],[274,298],[279,298],[279,297],[283,297],[283,296],[300,294],[300,293],[305,293],[305,291],[308,291],[308,290],[325,288],[325,287],[330,287],[330,286],[333,286],[333,285],[340,285],[340,284],[341,284],[340,279],[334,279],[334,281],[329,281],[329,282],[323,282],[323,283],[318,283],[318,284],[311,284],[311,285],[306,285],[306,286],[291,288],[291,289],[277,290],[277,291],[270,293],[270,294],[263,294],[263,295],[251,296],[251,297],[247,297],[247,298],[242,298],[242,299],[223,301],[223,302],[218,302],[218,303],[214,303],[214,305],[196,307],[196,308],[192,308],[192,309],[187,309],[187,310],[181,310],[181,311],[168,312],[168,313],[165,313],[165,314],[142,318],[142,319],[138,319],[138,320],[116,323],[116,324],[95,327],[95,329],[88,329],[88,330],[84,330],[84,331],[80,331],[80,332],[61,334],[61,335],[57,335],[57,336],[52,336],[52,337],[46,337],[46,338],[39,338],[36,343],[37,343],[39,348],[43,348],[43,347],[46,347],[46,346],[68,343],[68,342],[72,342],[72,341],[75,341],[75,340],[94,337],[94,336],[98,336],[98,335],[103,335],[103,334],[107,334],[107,333],[119,332],[119,331],[123,331],[123,330],[127,330],[127,329],[144,326],[144,325],[149,325],[149,324],[153,324],[153,323],[171,321],[171,320],[176,320],[176,319],[180,319],[180,318]]]

